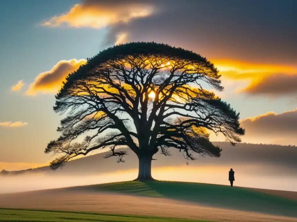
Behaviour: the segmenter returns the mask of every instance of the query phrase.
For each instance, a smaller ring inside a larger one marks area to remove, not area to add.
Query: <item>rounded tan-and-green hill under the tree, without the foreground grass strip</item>
[[[205,220],[217,218],[216,221],[227,216],[228,221],[230,217],[238,221],[297,221],[296,200],[242,187],[171,181],[129,181],[2,194],[0,207],[158,216],[171,214],[172,217],[180,215]],[[296,220],[269,218],[271,215]]]

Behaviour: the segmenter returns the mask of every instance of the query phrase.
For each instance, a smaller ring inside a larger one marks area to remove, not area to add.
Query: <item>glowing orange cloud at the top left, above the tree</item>
[[[44,26],[56,27],[66,23],[70,27],[104,28],[120,22],[147,17],[153,13],[153,7],[144,3],[82,3],[75,4],[68,12],[56,15],[42,23]]]

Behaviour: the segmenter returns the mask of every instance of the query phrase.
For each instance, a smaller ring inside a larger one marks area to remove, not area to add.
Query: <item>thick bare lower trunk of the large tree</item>
[[[152,155],[138,156],[139,168],[137,181],[154,180],[151,176],[151,160]]]

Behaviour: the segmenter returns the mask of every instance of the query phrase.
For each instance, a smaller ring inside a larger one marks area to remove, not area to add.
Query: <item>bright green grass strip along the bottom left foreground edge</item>
[[[5,222],[194,222],[193,220],[175,219],[175,218],[158,218],[133,215],[116,215],[100,213],[83,213],[83,212],[65,212],[50,210],[18,210],[18,209],[0,209],[0,221]],[[202,221],[195,221],[202,222]],[[206,222],[206,221],[204,221]],[[209,221],[210,222],[210,221]]]

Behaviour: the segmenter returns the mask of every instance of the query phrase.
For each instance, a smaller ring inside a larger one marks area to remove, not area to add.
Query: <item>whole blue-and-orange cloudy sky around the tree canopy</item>
[[[242,141],[297,145],[294,0],[0,1],[0,165],[39,166],[59,133],[54,95],[101,50],[155,41],[214,63]],[[222,138],[211,136],[212,141]]]

